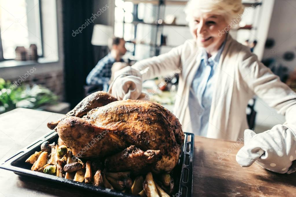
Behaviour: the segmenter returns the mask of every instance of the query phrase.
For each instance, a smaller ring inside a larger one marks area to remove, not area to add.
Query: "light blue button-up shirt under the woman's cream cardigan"
[[[200,136],[207,135],[210,109],[215,85],[215,70],[218,66],[225,41],[217,54],[208,58],[203,50],[200,66],[194,76],[189,95],[189,111],[193,133]],[[222,84],[221,84],[222,85]]]

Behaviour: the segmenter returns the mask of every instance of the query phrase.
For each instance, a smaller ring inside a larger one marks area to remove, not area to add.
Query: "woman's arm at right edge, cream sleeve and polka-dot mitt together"
[[[286,122],[255,134],[246,129],[244,146],[237,153],[237,162],[248,167],[257,162],[263,168],[277,173],[293,173],[296,168],[296,96],[278,76],[250,55],[239,65],[244,84],[269,106],[286,116]]]

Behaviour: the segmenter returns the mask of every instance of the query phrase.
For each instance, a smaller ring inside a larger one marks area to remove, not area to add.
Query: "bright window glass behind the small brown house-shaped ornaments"
[[[0,0],[0,60],[14,59],[15,48],[37,45],[42,57],[40,0]]]

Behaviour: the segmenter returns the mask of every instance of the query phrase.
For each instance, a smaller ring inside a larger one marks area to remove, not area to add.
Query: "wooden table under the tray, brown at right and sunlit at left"
[[[0,158],[8,157],[48,133],[49,121],[62,114],[15,109],[0,115]],[[242,142],[195,137],[193,196],[295,196],[295,174],[277,174],[254,164],[240,167],[235,155]],[[224,155],[223,155],[224,154]],[[221,157],[220,157],[221,156]],[[0,159],[0,160],[2,160]],[[0,169],[0,196],[98,196],[57,183],[20,177]]]

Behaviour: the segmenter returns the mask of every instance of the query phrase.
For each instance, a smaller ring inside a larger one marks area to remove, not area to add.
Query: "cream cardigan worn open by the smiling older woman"
[[[142,80],[165,76],[181,70],[176,94],[174,114],[182,124],[184,132],[192,132],[189,115],[189,88],[200,59],[194,40],[157,57],[141,60],[132,68],[142,73]],[[180,69],[181,68],[181,69]],[[213,91],[207,137],[236,141],[243,137],[248,128],[246,107],[254,95],[259,96],[269,106],[286,115],[284,123],[296,132],[296,96],[278,76],[264,66],[250,49],[230,35],[215,70],[216,83]]]

